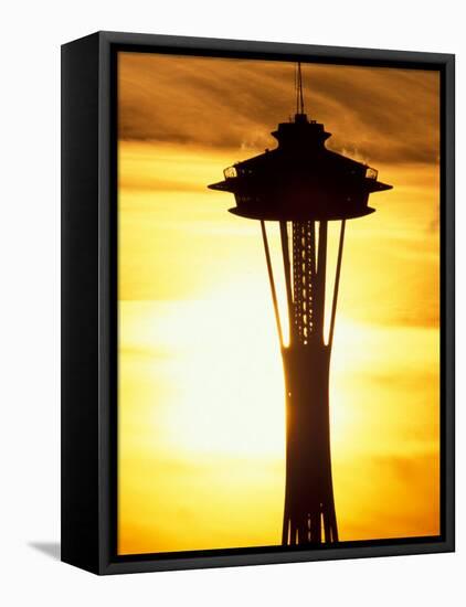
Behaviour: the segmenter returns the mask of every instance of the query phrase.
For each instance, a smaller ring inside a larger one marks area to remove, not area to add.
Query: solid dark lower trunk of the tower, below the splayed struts
[[[327,345],[283,349],[286,386],[286,488],[282,544],[338,542],[331,479]]]

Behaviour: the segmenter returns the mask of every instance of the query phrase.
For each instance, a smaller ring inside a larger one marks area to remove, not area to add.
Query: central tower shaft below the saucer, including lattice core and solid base
[[[293,270],[282,227],[285,278],[293,284],[286,386],[286,488],[283,544],[338,541],[329,426],[330,344],[324,340],[327,222],[293,222]],[[285,233],[286,232],[286,233]],[[288,278],[288,277],[289,278]]]

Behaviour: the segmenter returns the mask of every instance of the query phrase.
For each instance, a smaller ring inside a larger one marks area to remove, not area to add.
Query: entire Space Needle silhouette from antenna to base
[[[329,424],[329,368],[347,220],[374,212],[369,194],[392,187],[378,172],[328,150],[324,125],[305,114],[301,65],[295,72],[296,114],[272,132],[278,147],[225,169],[209,185],[232,192],[231,213],[261,222],[286,391],[286,486],[283,545],[338,542]],[[325,337],[328,222],[340,223]],[[288,334],[278,309],[265,222],[278,222]],[[287,339],[286,339],[287,338]]]

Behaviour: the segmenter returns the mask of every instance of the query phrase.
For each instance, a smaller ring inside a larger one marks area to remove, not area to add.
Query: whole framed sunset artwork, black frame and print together
[[[62,47],[62,560],[454,550],[454,56]]]

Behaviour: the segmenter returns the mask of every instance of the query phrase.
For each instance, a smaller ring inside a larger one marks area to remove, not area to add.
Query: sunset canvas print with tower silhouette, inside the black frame
[[[439,73],[120,51],[118,555],[441,534]]]

